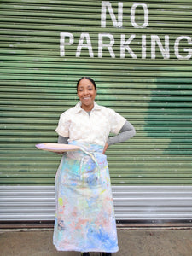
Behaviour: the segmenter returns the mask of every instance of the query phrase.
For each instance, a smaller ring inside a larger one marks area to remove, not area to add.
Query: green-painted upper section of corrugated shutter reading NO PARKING
[[[34,145],[57,141],[59,116],[78,102],[84,75],[96,80],[96,102],[137,130],[108,148],[113,185],[191,185],[191,1],[125,1],[122,26],[118,1],[0,6],[2,185],[54,183],[60,156]],[[65,48],[61,32],[69,33]],[[78,52],[83,33],[90,50]],[[101,49],[102,39],[113,46]]]

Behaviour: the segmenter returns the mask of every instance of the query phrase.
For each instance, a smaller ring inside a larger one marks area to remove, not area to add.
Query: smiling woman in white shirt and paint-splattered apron
[[[109,145],[135,135],[134,127],[112,109],[96,104],[96,84],[84,77],[77,84],[79,103],[61,114],[58,143],[78,145],[67,152],[55,176],[54,244],[59,251],[119,250],[108,162]],[[120,133],[119,133],[120,131]],[[117,134],[109,137],[109,133]]]

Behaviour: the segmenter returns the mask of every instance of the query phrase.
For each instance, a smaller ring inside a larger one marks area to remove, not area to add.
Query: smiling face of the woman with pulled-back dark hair
[[[78,85],[78,96],[82,102],[81,108],[90,111],[94,107],[94,100],[96,97],[96,89],[88,79],[82,79]]]

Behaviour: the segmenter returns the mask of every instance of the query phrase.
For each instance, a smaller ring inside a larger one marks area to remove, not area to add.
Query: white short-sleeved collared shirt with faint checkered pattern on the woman
[[[61,114],[56,132],[69,137],[69,141],[79,141],[104,146],[109,133],[118,134],[126,119],[111,108],[94,102],[90,114],[81,108],[81,102]]]

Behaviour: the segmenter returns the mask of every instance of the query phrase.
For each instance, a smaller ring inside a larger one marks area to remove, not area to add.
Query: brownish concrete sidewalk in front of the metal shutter
[[[53,230],[0,230],[1,256],[79,256],[56,252]],[[118,230],[119,252],[113,256],[192,256],[192,229]],[[91,256],[99,253],[91,253]]]

